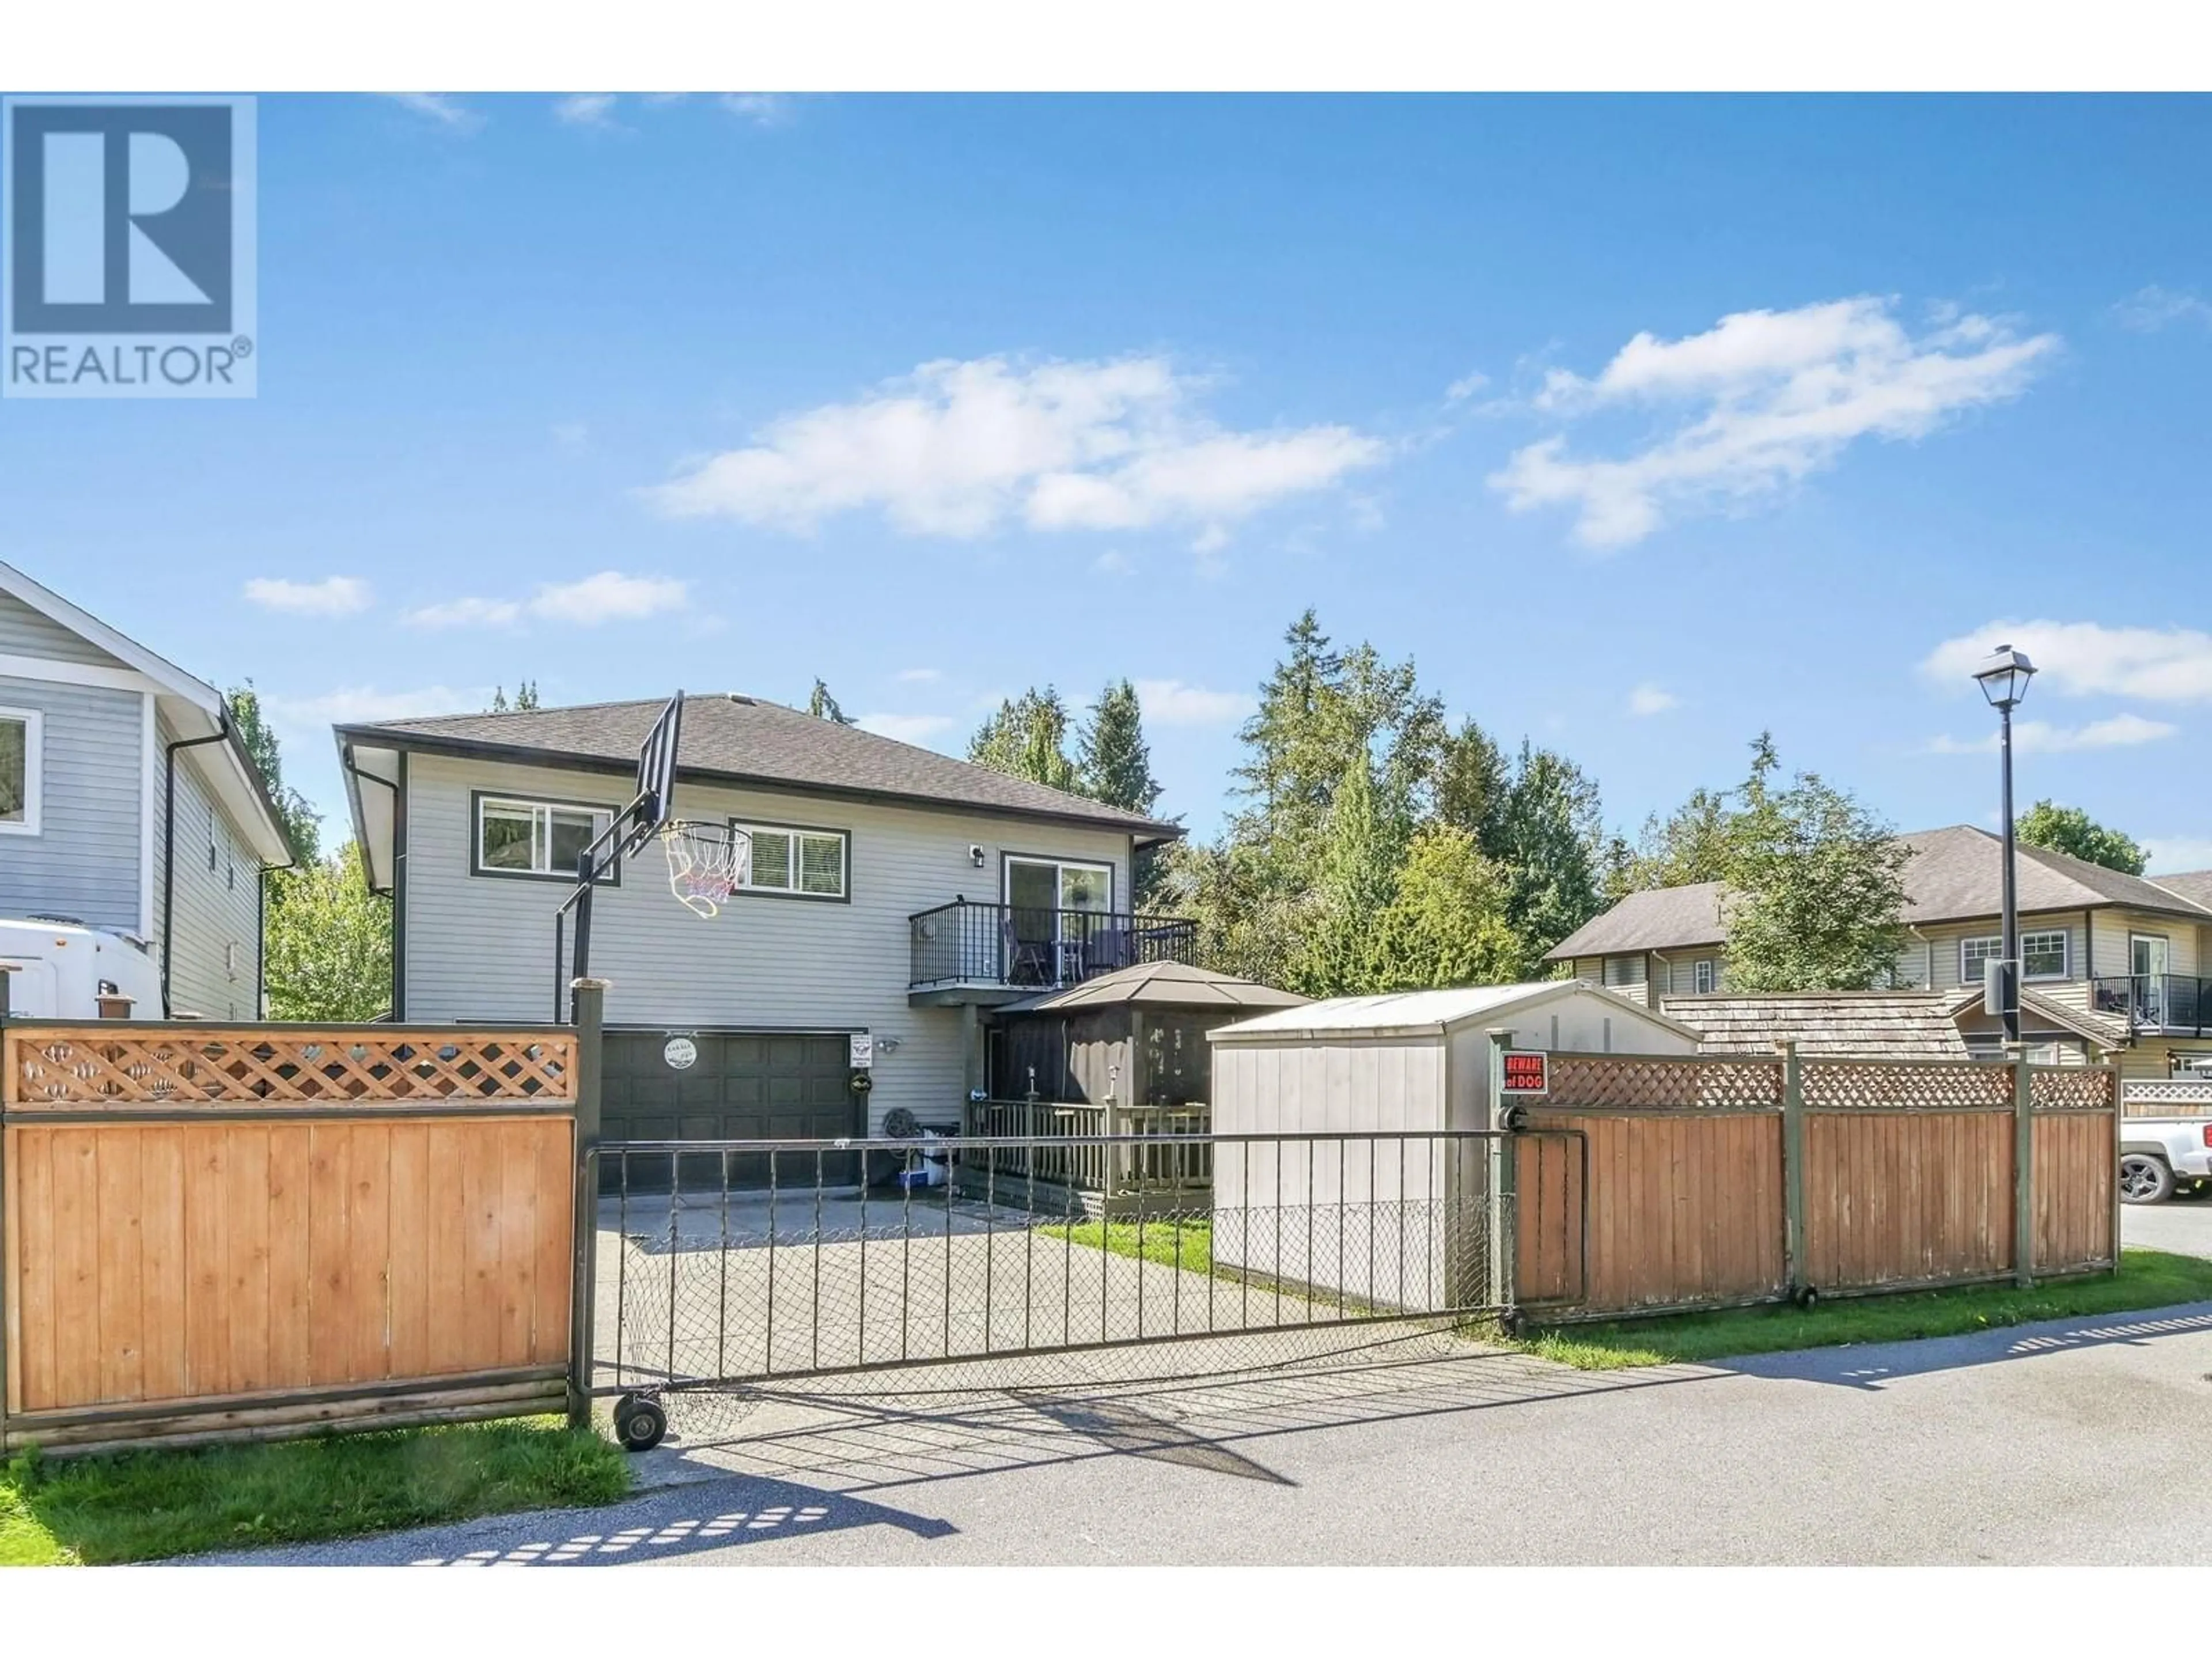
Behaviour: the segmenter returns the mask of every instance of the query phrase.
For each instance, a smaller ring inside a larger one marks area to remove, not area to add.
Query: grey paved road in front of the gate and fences
[[[1444,1354],[779,1398],[646,1460],[695,1484],[254,1559],[2212,1564],[2201,1482],[2146,1453],[2203,1433],[2212,1303],[1721,1367]]]

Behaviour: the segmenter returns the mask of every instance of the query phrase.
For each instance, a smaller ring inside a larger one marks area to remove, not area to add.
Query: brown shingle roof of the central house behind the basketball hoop
[[[385,741],[396,748],[630,770],[637,763],[637,745],[664,706],[666,699],[646,699],[507,714],[436,714],[341,726],[338,734],[354,743]],[[737,692],[684,699],[677,774],[695,781],[823,790],[1060,818],[1159,838],[1181,834],[1179,825],[1139,812],[1099,805],[936,750],[863,732],[858,726],[838,726]]]

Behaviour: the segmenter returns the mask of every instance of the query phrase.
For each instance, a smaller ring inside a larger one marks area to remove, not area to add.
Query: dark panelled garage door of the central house
[[[688,1066],[668,1064],[668,1031],[608,1031],[599,1095],[599,1133],[608,1141],[783,1141],[865,1135],[852,1093],[849,1044],[843,1035],[686,1031],[697,1051]],[[613,1172],[611,1172],[613,1175]],[[779,1170],[792,1179],[796,1166]],[[630,1161],[630,1186],[648,1177]],[[686,1159],[684,1186],[719,1183],[719,1159]],[[765,1159],[732,1159],[732,1186],[765,1186]],[[812,1186],[814,1170],[805,1170]],[[668,1183],[666,1168],[657,1186]]]

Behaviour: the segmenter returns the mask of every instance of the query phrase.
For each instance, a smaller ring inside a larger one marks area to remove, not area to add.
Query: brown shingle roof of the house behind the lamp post
[[[1905,865],[1907,922],[1951,922],[1997,914],[2004,878],[2004,843],[1997,836],[1958,823],[1949,830],[1918,830],[1898,836],[1898,841],[1913,849]],[[2020,847],[2015,869],[2022,911],[2126,905],[2212,922],[2212,872],[2146,880],[2064,852],[2028,845]],[[1628,894],[1604,916],[1590,918],[1559,940],[1544,960],[1677,951],[1725,940],[1721,883],[1703,880],[1688,887]]]

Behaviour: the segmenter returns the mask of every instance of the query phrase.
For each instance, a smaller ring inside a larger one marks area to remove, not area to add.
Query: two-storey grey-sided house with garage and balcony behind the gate
[[[661,706],[336,728],[369,883],[394,900],[394,1018],[555,1018],[555,909]],[[672,810],[752,849],[712,920],[670,894],[659,845],[595,894],[611,1137],[951,1121],[984,1082],[984,1009],[1197,947],[1128,898],[1177,825],[754,697],[684,701]]]

